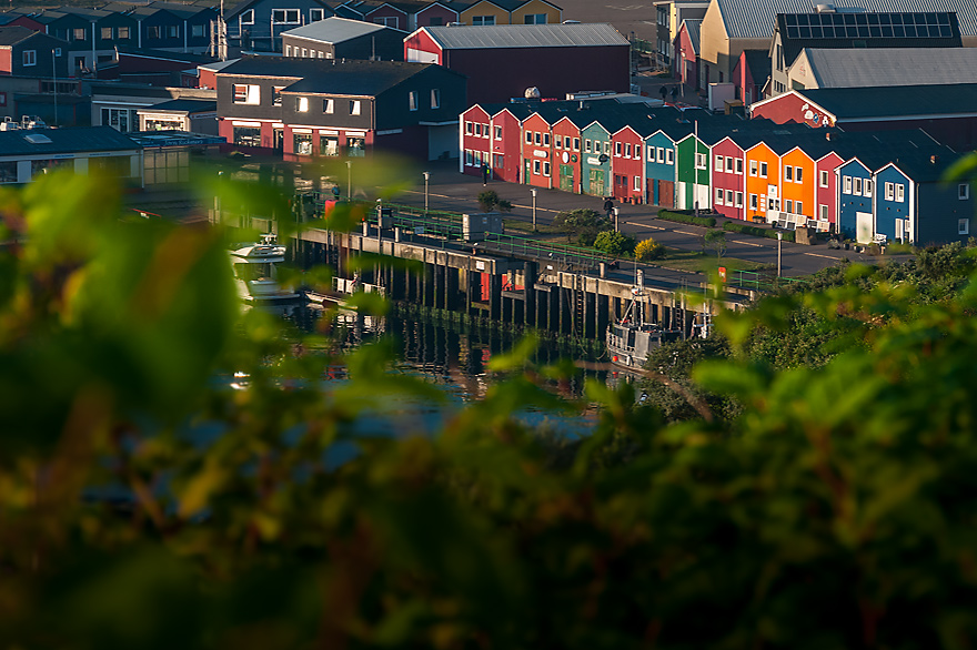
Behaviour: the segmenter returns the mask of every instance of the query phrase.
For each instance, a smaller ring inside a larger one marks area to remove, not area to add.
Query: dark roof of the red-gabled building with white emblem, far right
[[[795,91],[839,121],[916,115],[977,115],[977,83],[823,88]]]

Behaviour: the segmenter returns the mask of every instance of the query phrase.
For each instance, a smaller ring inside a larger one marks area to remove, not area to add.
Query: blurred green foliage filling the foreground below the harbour
[[[431,435],[391,403],[446,400],[389,343],[336,356],[241,313],[220,232],[117,204],[81,176],[0,191],[4,646],[977,640],[977,292],[935,271],[968,250],[830,270],[655,352],[712,423],[664,383],[661,409],[626,382],[563,400],[527,342]],[[513,417],[592,405],[581,440]]]

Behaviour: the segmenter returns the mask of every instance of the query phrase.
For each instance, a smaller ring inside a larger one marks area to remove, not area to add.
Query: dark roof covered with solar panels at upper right
[[[780,13],[777,31],[792,64],[805,48],[960,48],[956,13]]]

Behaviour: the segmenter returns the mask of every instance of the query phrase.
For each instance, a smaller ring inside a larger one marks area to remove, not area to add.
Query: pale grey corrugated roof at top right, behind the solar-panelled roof
[[[714,0],[731,39],[768,39],[778,13],[809,13],[823,0]],[[956,12],[960,33],[977,35],[977,2],[974,0],[834,0],[840,11],[948,11]]]

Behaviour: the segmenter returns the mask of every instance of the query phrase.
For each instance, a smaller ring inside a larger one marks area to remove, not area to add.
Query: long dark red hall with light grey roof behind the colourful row
[[[583,90],[631,91],[631,45],[610,24],[423,27],[404,59],[469,78],[469,103],[507,102],[538,89],[563,99]]]

